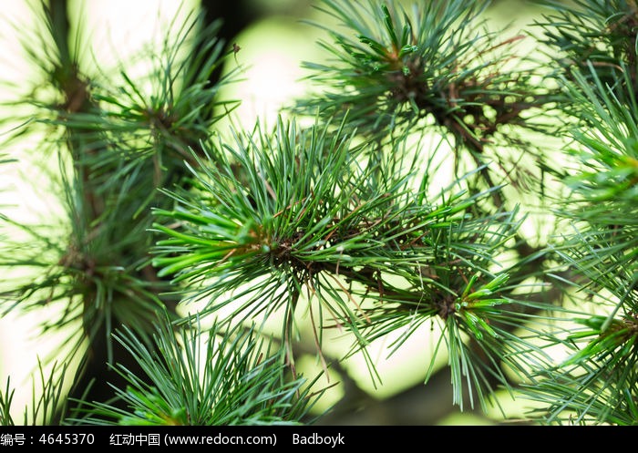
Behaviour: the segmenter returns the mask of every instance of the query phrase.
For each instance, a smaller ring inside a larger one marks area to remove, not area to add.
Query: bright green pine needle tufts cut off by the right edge
[[[559,51],[562,96],[575,158],[562,177],[562,234],[553,251],[571,266],[568,288],[594,300],[597,314],[576,316],[571,354],[543,370],[532,398],[546,401],[550,423],[635,425],[638,379],[638,105],[635,2],[553,2],[541,23]],[[578,304],[578,302],[576,302]]]

